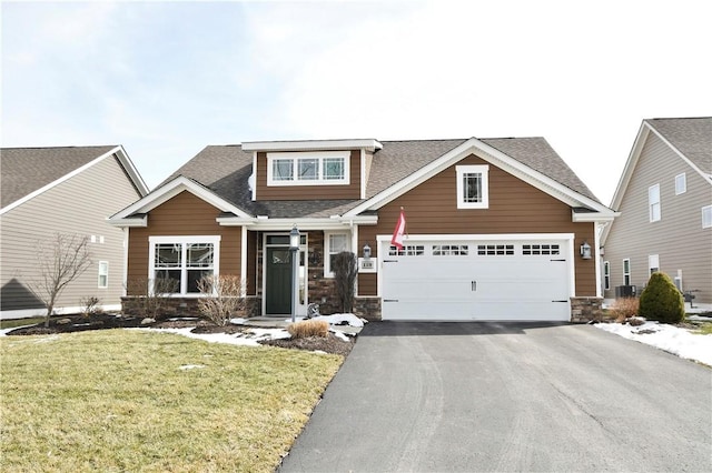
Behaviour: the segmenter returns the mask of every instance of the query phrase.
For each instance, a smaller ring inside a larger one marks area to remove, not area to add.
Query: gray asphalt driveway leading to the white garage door
[[[279,471],[712,471],[711,425],[711,369],[592,325],[380,322]]]

